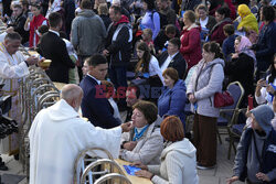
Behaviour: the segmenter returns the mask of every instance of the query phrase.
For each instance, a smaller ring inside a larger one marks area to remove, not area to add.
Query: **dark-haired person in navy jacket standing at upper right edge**
[[[261,30],[258,41],[254,45],[257,58],[257,78],[259,73],[267,71],[273,64],[273,57],[276,53],[276,23],[275,10],[273,7],[263,7],[261,9],[261,20],[265,22],[265,25]]]

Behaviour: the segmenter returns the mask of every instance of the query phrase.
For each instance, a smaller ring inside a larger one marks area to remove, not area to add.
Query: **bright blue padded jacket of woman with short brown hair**
[[[160,117],[164,115],[178,116],[183,126],[185,125],[185,84],[179,79],[172,89],[166,87],[162,95],[158,99],[158,113]]]

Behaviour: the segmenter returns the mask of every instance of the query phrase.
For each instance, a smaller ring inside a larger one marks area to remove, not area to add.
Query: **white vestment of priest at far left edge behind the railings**
[[[18,91],[20,80],[29,74],[29,68],[24,61],[25,57],[20,51],[10,55],[3,43],[0,43],[0,84],[4,84],[4,87],[2,88],[3,95],[12,96],[12,105],[9,117],[14,119],[19,127],[21,126],[21,105],[19,102]],[[1,140],[0,152],[9,154],[18,153],[18,134],[13,133]]]

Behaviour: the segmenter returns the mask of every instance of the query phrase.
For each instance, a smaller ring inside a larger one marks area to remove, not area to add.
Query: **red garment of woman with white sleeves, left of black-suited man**
[[[33,20],[30,22],[30,37],[29,37],[30,47],[34,46],[33,45],[33,36],[34,36],[34,34],[35,34],[35,44],[38,45],[40,37],[35,33],[35,31],[39,30],[39,28],[41,26],[41,24],[45,20],[46,20],[46,18],[44,18],[42,14],[39,14],[36,17],[33,17]]]

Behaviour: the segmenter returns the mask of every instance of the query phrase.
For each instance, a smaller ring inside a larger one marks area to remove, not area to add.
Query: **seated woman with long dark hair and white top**
[[[136,65],[136,74],[148,78],[150,85],[162,86],[163,77],[157,58],[150,54],[150,50],[145,42],[139,42],[136,47],[139,62]]]

